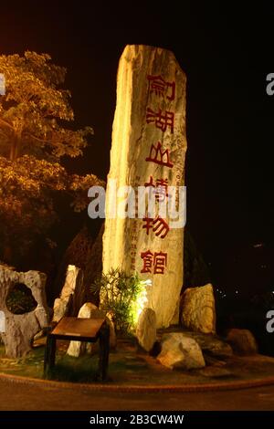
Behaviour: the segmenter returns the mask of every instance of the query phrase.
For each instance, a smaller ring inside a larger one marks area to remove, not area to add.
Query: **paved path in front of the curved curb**
[[[227,392],[92,392],[0,380],[0,410],[274,411],[274,386]]]

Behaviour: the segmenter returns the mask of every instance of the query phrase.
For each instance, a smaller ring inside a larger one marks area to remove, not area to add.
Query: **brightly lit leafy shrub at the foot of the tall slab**
[[[120,334],[129,333],[132,329],[135,303],[142,288],[137,274],[129,276],[120,268],[102,273],[91,286],[93,293],[100,292],[100,309],[107,312]]]

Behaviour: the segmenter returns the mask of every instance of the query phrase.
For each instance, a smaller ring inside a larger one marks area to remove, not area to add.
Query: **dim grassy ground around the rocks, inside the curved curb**
[[[31,351],[24,359],[7,359],[5,348],[0,345],[0,372],[43,379],[43,346]],[[56,366],[50,380],[59,382],[94,383],[98,370],[98,353],[72,358],[66,354],[64,343],[58,344]],[[136,351],[130,341],[118,343],[117,351],[111,352],[108,382],[118,385],[184,385],[187,383],[216,383],[247,381],[272,376],[274,359],[264,356],[233,356],[222,367],[207,365],[205,369],[193,371],[171,371],[152,357]]]

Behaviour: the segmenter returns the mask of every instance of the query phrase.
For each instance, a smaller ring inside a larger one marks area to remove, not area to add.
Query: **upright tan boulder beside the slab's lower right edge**
[[[190,330],[216,332],[215,298],[210,283],[184,290],[181,299],[181,323]]]

